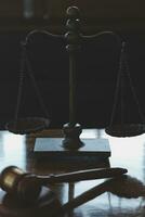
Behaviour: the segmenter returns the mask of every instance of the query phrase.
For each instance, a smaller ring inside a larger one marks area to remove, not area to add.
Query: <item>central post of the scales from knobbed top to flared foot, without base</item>
[[[79,139],[81,126],[76,123],[76,62],[80,50],[80,20],[79,9],[69,7],[66,11],[67,22],[65,39],[67,41],[66,50],[69,54],[69,123],[63,126],[65,149],[79,149],[83,142]]]

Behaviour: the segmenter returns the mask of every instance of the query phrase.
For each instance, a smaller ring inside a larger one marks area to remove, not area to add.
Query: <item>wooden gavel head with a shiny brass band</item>
[[[35,175],[24,173],[16,166],[9,166],[0,175],[0,188],[24,201],[36,201],[41,183]]]

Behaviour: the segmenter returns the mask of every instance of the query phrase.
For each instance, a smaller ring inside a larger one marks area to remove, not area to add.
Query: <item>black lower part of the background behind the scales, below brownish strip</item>
[[[122,31],[128,41],[130,74],[141,108],[145,111],[145,33]],[[21,46],[26,31],[0,34],[0,128],[14,118],[19,79]],[[28,43],[34,76],[51,117],[51,127],[68,122],[68,55],[64,40],[36,35]],[[118,75],[120,44],[113,36],[82,43],[77,69],[77,119],[83,127],[109,124]],[[139,107],[126,77],[126,118],[139,122]],[[120,100],[120,98],[119,98]],[[116,119],[120,118],[120,101]],[[19,117],[43,116],[32,82],[26,73]]]

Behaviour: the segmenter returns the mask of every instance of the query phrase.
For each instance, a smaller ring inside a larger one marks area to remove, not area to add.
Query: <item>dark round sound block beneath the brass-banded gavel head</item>
[[[39,199],[31,203],[0,192],[0,217],[52,217],[61,207],[55,194],[45,187],[42,187]]]

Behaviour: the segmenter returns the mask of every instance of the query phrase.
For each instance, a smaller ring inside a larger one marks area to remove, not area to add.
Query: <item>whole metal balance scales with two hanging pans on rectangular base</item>
[[[113,33],[113,31],[101,31],[96,35],[84,36],[80,33],[80,13],[77,7],[69,7],[66,11],[67,22],[66,22],[66,34],[65,35],[54,35],[49,33],[48,30],[31,30],[27,36],[26,40],[22,43],[22,64],[21,64],[21,74],[19,74],[19,85],[18,85],[18,94],[17,94],[17,104],[15,111],[14,120],[6,124],[6,129],[14,133],[19,135],[29,135],[37,131],[41,131],[43,129],[49,129],[50,118],[48,111],[44,106],[43,100],[37,87],[37,82],[35,80],[31,65],[27,56],[27,43],[29,38],[35,34],[45,34],[49,37],[58,38],[62,37],[66,41],[66,52],[69,56],[69,123],[64,124],[63,133],[64,138],[37,138],[35,143],[35,153],[41,154],[44,153],[48,156],[94,156],[94,157],[108,157],[110,156],[109,142],[107,139],[80,139],[80,135],[82,132],[82,127],[77,123],[76,119],[76,69],[77,69],[77,54],[81,49],[81,41],[96,39],[104,34],[113,35],[113,37],[117,38],[120,46],[120,62],[117,74],[117,84],[115,91],[115,100],[113,105],[113,113],[110,116],[110,124],[106,127],[106,132],[110,136],[115,137],[132,137],[142,135],[145,132],[144,125],[144,114],[140,107],[139,99],[135,93],[134,86],[132,84],[132,79],[129,73],[129,66],[127,61],[127,46],[126,41],[121,36]],[[42,106],[45,117],[27,117],[19,118],[19,105],[22,98],[22,89],[24,81],[24,72],[27,68],[27,73],[32,81],[34,88],[36,90],[38,100],[40,105]],[[129,80],[129,87],[132,92],[134,102],[136,104],[137,113],[141,117],[141,123],[127,124],[124,122],[124,77]],[[121,106],[121,120],[119,124],[114,124],[115,114],[117,110],[117,103],[120,92],[120,106]]]

